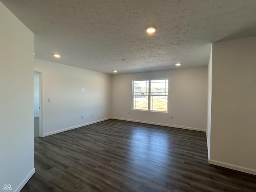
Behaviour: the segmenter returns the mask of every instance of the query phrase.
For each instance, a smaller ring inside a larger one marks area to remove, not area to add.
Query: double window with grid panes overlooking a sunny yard
[[[132,109],[167,112],[168,79],[132,81]]]

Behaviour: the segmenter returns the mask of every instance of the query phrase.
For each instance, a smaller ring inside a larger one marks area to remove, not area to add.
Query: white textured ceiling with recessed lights
[[[34,33],[35,58],[108,74],[207,66],[212,42],[256,36],[256,0],[0,1]]]

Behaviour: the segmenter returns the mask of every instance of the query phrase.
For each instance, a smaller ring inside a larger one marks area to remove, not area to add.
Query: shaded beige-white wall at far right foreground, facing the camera
[[[256,174],[256,36],[213,44],[210,163]]]

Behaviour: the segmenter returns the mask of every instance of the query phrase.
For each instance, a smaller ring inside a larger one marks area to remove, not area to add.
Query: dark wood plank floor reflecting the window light
[[[208,164],[205,132],[111,119],[34,148],[22,192],[256,192],[256,176]]]

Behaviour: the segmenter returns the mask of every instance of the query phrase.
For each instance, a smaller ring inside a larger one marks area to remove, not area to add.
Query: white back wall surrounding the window
[[[207,72],[200,67],[113,75],[112,117],[206,131]],[[131,110],[132,80],[153,78],[169,78],[168,113]]]

